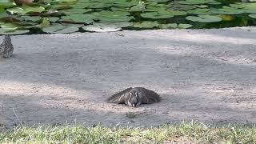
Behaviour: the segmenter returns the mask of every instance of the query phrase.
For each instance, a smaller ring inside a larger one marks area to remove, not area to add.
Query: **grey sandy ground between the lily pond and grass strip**
[[[2,37],[1,37],[2,41]],[[6,126],[102,122],[256,122],[256,27],[13,36],[0,62],[0,121]],[[106,102],[128,86],[162,102]],[[134,112],[136,118],[127,118]]]

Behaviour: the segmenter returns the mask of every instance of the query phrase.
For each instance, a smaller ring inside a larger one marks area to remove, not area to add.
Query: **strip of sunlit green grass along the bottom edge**
[[[0,143],[256,143],[255,125],[206,126],[182,122],[152,128],[18,126],[0,133]]]

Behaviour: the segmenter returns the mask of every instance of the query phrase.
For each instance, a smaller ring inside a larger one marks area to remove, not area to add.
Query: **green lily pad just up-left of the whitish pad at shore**
[[[75,22],[75,23],[86,23],[90,24],[94,22],[90,14],[70,14],[66,16],[62,16],[61,21],[64,22]]]

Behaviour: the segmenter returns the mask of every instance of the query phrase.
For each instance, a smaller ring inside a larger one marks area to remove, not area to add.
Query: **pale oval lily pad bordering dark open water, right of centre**
[[[193,22],[221,22],[222,18],[214,15],[198,15],[198,16],[187,16],[187,20]]]

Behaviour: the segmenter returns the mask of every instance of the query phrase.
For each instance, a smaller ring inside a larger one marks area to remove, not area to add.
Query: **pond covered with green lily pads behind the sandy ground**
[[[0,0],[0,34],[256,26],[256,0]]]

